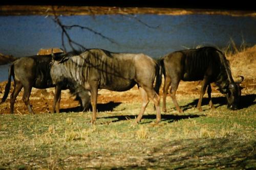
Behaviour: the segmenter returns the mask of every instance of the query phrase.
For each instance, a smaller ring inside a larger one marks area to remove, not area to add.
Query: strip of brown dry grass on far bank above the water
[[[256,16],[255,11],[179,9],[179,8],[138,8],[138,7],[94,7],[94,6],[53,6],[57,15],[115,15],[115,14],[158,14],[158,15],[231,15]],[[1,6],[1,15],[53,15],[52,6]]]

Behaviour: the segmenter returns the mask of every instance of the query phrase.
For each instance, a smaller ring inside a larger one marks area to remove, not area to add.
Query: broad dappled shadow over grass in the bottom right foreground
[[[112,169],[255,169],[255,146],[236,138],[166,141],[149,149],[146,163]]]

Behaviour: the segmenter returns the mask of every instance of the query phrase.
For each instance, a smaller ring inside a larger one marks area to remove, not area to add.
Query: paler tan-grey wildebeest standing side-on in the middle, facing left
[[[126,91],[136,84],[143,99],[136,122],[140,122],[148,98],[156,106],[156,123],[160,122],[160,97],[153,87],[155,78],[159,78],[159,65],[154,59],[144,54],[112,53],[101,49],[68,54],[52,53],[52,57],[51,77],[54,84],[68,81],[91,91],[91,123],[96,120],[98,89]]]

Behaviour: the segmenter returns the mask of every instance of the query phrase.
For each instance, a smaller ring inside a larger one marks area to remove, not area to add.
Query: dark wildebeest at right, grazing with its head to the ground
[[[163,111],[166,111],[166,95],[170,86],[170,96],[176,109],[182,113],[177,100],[176,90],[180,80],[183,81],[199,81],[202,80],[202,87],[197,108],[202,111],[201,103],[203,95],[208,86],[207,93],[209,98],[209,106],[214,108],[211,101],[210,83],[215,82],[219,87],[219,91],[226,94],[227,107],[229,109],[237,109],[241,89],[241,80],[234,82],[231,76],[229,61],[224,54],[214,47],[201,47],[198,49],[183,50],[167,54],[160,59],[161,72],[164,75],[163,88]]]

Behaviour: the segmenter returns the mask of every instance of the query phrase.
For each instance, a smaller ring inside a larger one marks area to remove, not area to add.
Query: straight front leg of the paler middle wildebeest
[[[91,123],[94,124],[97,117],[96,106],[97,106],[97,98],[98,98],[98,82],[93,81],[92,83],[90,83],[90,87],[91,87],[91,105],[93,109]]]

